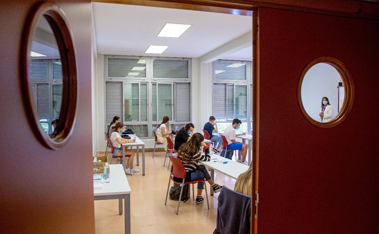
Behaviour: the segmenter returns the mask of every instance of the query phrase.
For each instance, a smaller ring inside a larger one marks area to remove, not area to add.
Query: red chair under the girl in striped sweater
[[[194,181],[184,182],[184,179],[186,177],[187,171],[184,168],[182,161],[180,161],[180,159],[172,157],[172,156],[169,156],[169,157],[170,157],[170,161],[172,162],[172,166],[171,166],[170,177],[168,179],[166,201],[164,202],[164,204],[166,205],[166,203],[167,203],[167,197],[168,197],[168,190],[170,188],[170,182],[173,181],[175,184],[179,184],[179,185],[181,184],[182,186],[180,188],[178,209],[176,210],[176,214],[178,214],[179,213],[179,206],[180,206],[180,198],[182,197],[182,192],[183,192],[183,185],[185,185],[185,184],[192,184],[192,197],[193,197],[193,200],[195,200],[194,184],[196,184],[198,182],[201,182],[201,181],[206,182],[206,180],[200,178],[200,179],[196,179]],[[183,182],[180,183],[180,182],[174,181],[174,176],[183,179]],[[207,185],[204,184],[204,187],[205,187],[205,196],[207,197],[207,204],[208,204],[208,210],[209,210]],[[190,186],[188,186],[188,188],[190,188]]]

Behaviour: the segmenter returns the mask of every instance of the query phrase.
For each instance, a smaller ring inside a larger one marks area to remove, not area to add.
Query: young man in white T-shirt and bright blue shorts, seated
[[[241,120],[233,119],[232,126],[227,127],[223,134],[226,140],[228,141],[228,149],[239,151],[237,162],[243,163],[245,165],[249,165],[248,162],[246,161],[247,145],[236,141],[236,136],[246,135],[245,132],[236,134],[236,129],[240,128],[241,123],[242,123]],[[241,154],[242,154],[242,161],[241,161]]]

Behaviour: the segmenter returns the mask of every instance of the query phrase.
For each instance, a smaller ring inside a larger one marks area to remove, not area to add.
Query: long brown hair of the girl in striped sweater
[[[199,132],[194,133],[189,141],[180,146],[177,158],[181,155],[187,164],[193,162],[193,156],[199,153],[202,141],[204,141],[203,135]]]

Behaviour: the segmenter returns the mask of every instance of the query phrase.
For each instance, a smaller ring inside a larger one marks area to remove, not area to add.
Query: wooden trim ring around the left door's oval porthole
[[[52,137],[49,137],[43,131],[39,122],[39,115],[31,90],[31,80],[29,79],[31,44],[37,22],[41,17],[45,17],[53,30],[60,52],[63,72],[61,110],[58,125],[52,133]],[[20,46],[20,83],[24,98],[25,115],[36,137],[44,146],[50,149],[60,149],[67,144],[75,123],[78,86],[77,65],[72,38],[66,16],[58,5],[52,2],[39,2],[30,9],[25,19]]]

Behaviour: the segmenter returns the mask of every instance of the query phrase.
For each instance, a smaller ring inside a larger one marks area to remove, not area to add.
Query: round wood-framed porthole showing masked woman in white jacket
[[[316,126],[338,125],[351,110],[353,97],[350,74],[335,58],[317,58],[301,74],[299,104],[305,117]]]

